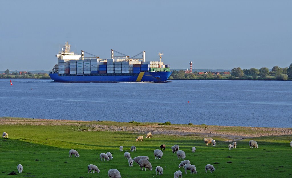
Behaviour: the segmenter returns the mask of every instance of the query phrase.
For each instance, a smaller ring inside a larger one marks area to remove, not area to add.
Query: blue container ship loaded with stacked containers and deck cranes
[[[84,53],[91,57],[84,57]],[[50,77],[56,82],[90,83],[90,82],[166,82],[171,75],[169,65],[159,61],[145,61],[145,51],[129,57],[111,49],[110,59],[100,59],[85,51],[81,55],[70,52],[68,42],[59,52],[58,64],[55,64]],[[142,58],[135,58],[142,54]]]

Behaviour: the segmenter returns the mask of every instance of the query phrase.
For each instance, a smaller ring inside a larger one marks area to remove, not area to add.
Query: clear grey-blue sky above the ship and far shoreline
[[[292,1],[0,0],[1,71],[51,70],[67,41],[102,59],[163,52],[171,69],[284,68]]]

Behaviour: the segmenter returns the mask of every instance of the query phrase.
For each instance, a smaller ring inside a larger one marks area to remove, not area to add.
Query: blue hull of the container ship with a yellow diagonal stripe
[[[59,76],[49,74],[56,82],[90,83],[90,82],[166,82],[171,71],[140,72],[139,75],[96,75],[96,76]],[[64,74],[61,74],[64,75]]]

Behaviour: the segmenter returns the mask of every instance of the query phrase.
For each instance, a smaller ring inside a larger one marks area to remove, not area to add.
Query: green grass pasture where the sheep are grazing
[[[119,123],[116,123],[117,125]],[[126,126],[127,123],[121,125]],[[220,137],[216,138],[216,146],[206,146],[201,136],[152,135],[145,138],[146,133],[81,131],[86,126],[72,125],[6,125],[1,124],[0,132],[7,132],[8,139],[0,141],[0,177],[108,177],[107,171],[116,168],[124,178],[130,177],[173,177],[177,170],[183,177],[292,177],[292,147],[289,142],[292,135],[264,136],[253,138],[258,142],[258,149],[250,149],[248,141],[237,141],[237,148],[228,149],[228,144]],[[143,142],[135,142],[139,135]],[[215,139],[215,138],[214,138]],[[155,160],[153,151],[166,144],[161,160]],[[184,173],[180,169],[171,146],[178,144],[185,151],[186,159],[197,169],[197,174]],[[124,150],[119,151],[122,145]],[[137,152],[130,152],[135,145]],[[196,152],[192,153],[192,146]],[[79,152],[79,158],[69,158],[69,150]],[[113,160],[100,161],[99,154],[111,152]],[[128,166],[124,152],[131,157],[148,156],[153,170],[142,171],[138,164]],[[17,165],[22,164],[24,171],[18,173]],[[88,174],[87,166],[97,165],[100,173]],[[212,164],[215,171],[205,172],[205,165]],[[162,176],[155,175],[155,167],[164,169]],[[12,171],[17,175],[8,175]]]

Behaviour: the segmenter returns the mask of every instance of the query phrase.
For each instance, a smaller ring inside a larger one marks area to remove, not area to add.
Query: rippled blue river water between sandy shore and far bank
[[[291,81],[56,83],[0,79],[0,116],[292,127]]]

